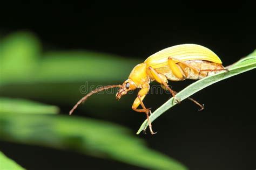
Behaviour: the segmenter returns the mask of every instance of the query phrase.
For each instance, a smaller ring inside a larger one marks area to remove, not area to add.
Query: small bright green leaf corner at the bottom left
[[[19,170],[24,169],[19,166],[14,160],[6,157],[3,152],[0,151],[0,169],[1,170]]]

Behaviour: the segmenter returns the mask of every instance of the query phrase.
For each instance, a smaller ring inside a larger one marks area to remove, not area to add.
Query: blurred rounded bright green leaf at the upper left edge
[[[3,39],[0,45],[0,83],[32,79],[41,51],[37,38],[28,32],[17,32]]]

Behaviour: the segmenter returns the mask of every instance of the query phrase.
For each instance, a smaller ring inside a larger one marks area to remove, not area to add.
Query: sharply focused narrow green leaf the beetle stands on
[[[228,66],[229,72],[223,71],[212,76],[205,77],[204,79],[198,80],[190,84],[190,86],[186,87],[185,89],[181,90],[176,95],[176,97],[179,98],[180,101],[183,101],[185,98],[190,97],[194,93],[197,93],[201,89],[204,89],[213,83],[227,79],[228,77],[232,77],[237,74],[247,72],[248,70],[252,70],[254,68],[256,68],[256,51],[248,55],[246,58],[242,58],[233,65]],[[174,105],[176,105],[176,103],[174,102],[174,98],[172,97],[170,98],[170,100],[165,102],[163,105],[161,105],[161,107],[153,112],[153,114],[150,116],[150,121],[153,122],[156,118],[162,115],[166,110],[172,108]],[[140,126],[137,134],[146,129],[148,125],[149,124],[147,123],[147,120],[145,120]]]

